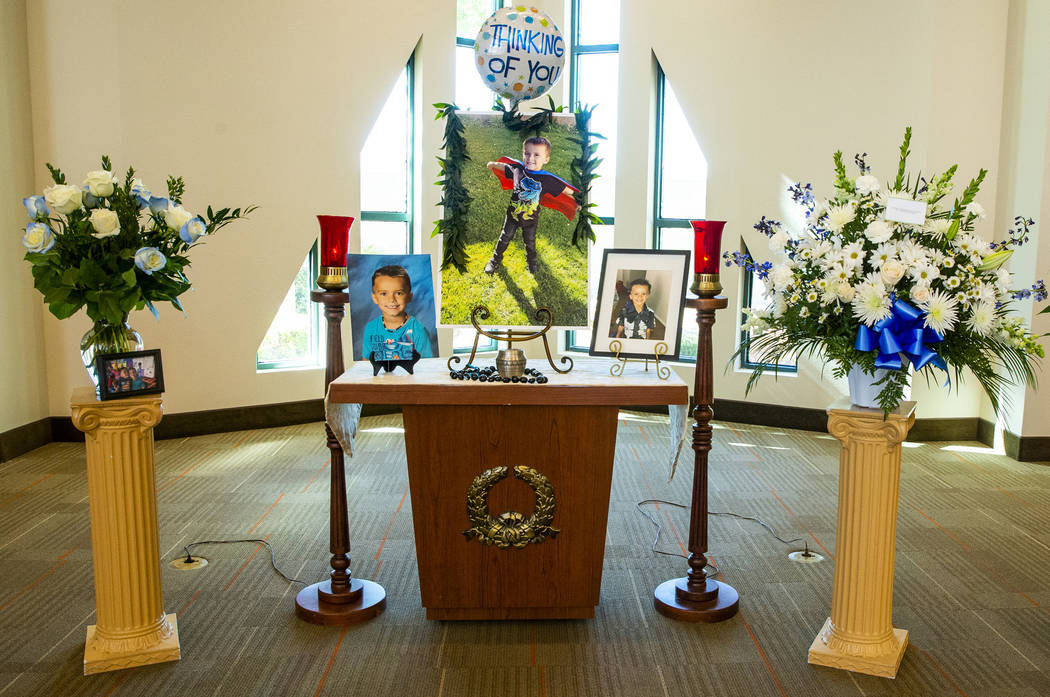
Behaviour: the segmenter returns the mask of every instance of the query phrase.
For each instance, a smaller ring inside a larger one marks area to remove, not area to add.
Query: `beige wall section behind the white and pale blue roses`
[[[442,44],[455,33],[448,0],[350,7],[335,0],[30,7],[38,162],[78,177],[109,153],[117,168],[133,164],[155,188],[169,172],[184,175],[191,210],[259,206],[251,220],[194,250],[185,316],[170,307],[160,322],[133,316],[146,345],[164,351],[169,411],[320,396],[322,371],[257,374],[256,348],[317,235],[314,215],[358,214],[358,153],[413,48],[422,36],[419,102],[439,101],[452,73]],[[423,135],[433,152],[434,128]],[[37,184],[44,184],[39,172]],[[426,210],[422,217],[433,219]],[[70,389],[86,380],[72,346],[89,321],[81,314],[45,325],[50,413],[68,414]]]

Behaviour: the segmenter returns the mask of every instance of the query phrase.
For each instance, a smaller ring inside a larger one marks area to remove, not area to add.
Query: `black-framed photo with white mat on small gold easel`
[[[688,251],[605,250],[589,354],[677,360],[688,280]]]

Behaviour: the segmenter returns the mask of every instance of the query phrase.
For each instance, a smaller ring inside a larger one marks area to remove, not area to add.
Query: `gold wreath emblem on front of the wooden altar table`
[[[546,477],[524,465],[514,467],[514,477],[528,484],[536,494],[532,514],[525,518],[508,510],[494,518],[488,512],[488,492],[506,476],[506,467],[492,467],[474,478],[466,492],[466,515],[470,520],[470,529],[463,531],[466,538],[478,537],[483,545],[500,549],[522,549],[561,532],[550,526],[554,520],[554,487]]]

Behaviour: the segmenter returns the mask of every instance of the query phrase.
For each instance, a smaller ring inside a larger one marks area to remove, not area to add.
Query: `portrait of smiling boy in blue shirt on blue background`
[[[354,360],[408,369],[438,355],[429,254],[348,254],[346,276]]]

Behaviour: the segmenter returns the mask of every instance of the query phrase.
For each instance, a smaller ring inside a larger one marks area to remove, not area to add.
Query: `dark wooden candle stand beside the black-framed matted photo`
[[[699,337],[696,346],[696,378],[693,395],[693,501],[689,514],[689,571],[682,578],[660,584],[653,593],[653,605],[672,619],[691,622],[717,622],[729,619],[739,608],[736,589],[708,578],[704,567],[708,559],[708,452],[711,451],[711,419],[714,410],[714,371],[711,356],[711,328],[715,311],[729,304],[724,297],[689,298],[687,308],[696,309]]]

